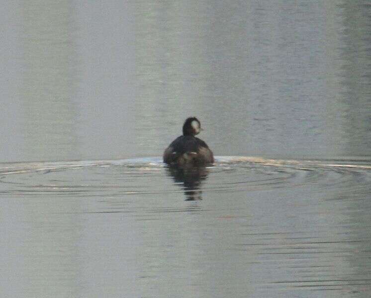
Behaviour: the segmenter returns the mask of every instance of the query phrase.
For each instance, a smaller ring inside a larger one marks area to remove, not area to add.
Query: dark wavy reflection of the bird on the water
[[[169,166],[169,176],[172,176],[176,183],[183,183],[186,201],[202,200],[202,181],[207,178],[208,169],[204,166],[179,167]]]

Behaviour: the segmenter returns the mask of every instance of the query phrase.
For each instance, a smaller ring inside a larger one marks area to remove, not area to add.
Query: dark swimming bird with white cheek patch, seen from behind
[[[165,163],[171,165],[202,165],[214,162],[214,155],[205,142],[195,137],[202,131],[195,117],[186,119],[183,136],[175,139],[164,151]]]

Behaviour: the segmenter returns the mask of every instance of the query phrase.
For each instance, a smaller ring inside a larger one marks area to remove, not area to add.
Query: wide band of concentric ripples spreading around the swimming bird
[[[173,183],[166,183],[173,177]],[[191,178],[191,179],[190,179]],[[188,181],[188,180],[192,181]],[[208,180],[204,183],[204,180]],[[312,186],[358,194],[371,191],[371,165],[366,162],[275,160],[217,156],[203,172],[174,173],[161,158],[8,163],[0,165],[1,193],[73,196],[267,191]],[[166,187],[164,187],[166,186]],[[181,186],[181,187],[179,187]]]

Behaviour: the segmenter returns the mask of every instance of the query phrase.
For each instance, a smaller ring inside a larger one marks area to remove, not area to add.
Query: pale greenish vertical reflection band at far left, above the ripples
[[[72,1],[22,1],[23,158],[79,158]],[[15,136],[17,137],[17,136]],[[19,160],[19,159],[18,159]],[[20,161],[24,161],[21,159]]]

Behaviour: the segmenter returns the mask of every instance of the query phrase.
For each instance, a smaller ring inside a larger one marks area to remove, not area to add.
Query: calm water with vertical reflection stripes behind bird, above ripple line
[[[367,0],[38,3],[3,26],[1,161],[157,156],[188,116],[219,155],[371,154]]]

